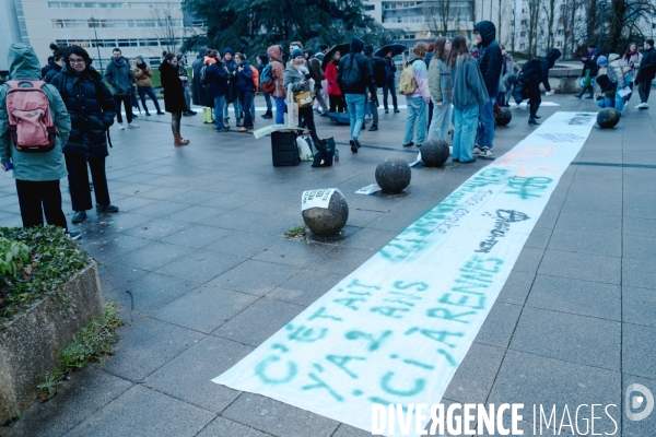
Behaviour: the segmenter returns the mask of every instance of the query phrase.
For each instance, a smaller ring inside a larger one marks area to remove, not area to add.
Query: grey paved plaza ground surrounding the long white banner
[[[597,110],[571,95],[549,99],[562,106],[542,107],[542,120]],[[569,404],[573,414],[591,403],[623,411],[632,383],[656,393],[656,128],[654,110],[633,109],[635,101],[616,129],[594,128],[566,169],[444,403]],[[495,156],[532,131],[526,109],[513,113],[497,128]],[[260,114],[256,128],[265,126]],[[116,355],[72,374],[0,435],[370,435],[211,379],[491,161],[449,160],[412,169],[405,194],[358,196],[384,158],[414,160],[417,147],[401,147],[406,110],[380,111],[380,130],[362,133],[358,154],[347,127],[316,119],[319,137],[338,142],[341,160],[331,168],[272,167],[270,139],[236,132],[234,117],[229,133],[202,125],[200,114],[184,118],[185,147],[173,146],[168,115],[112,128],[107,176],[120,212],[91,211],[71,228],[98,262],[105,299],[125,309]],[[345,237],[284,237],[303,224],[301,193],[329,187],[349,202]],[[70,221],[66,180],[62,193]],[[10,175],[0,177],[0,225],[21,225]],[[532,412],[525,414],[522,428],[534,435]],[[641,422],[616,416],[616,435],[656,434],[656,413]],[[598,426],[612,430],[608,421]]]

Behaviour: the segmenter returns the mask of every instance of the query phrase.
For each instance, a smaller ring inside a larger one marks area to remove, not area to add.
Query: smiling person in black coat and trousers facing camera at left
[[[91,67],[91,58],[80,46],[66,49],[66,64],[52,78],[51,84],[59,91],[71,116],[71,134],[63,146],[68,169],[72,223],[86,220],[86,211],[93,208],[89,187],[87,166],[91,169],[96,211],[116,213],[118,206],[109,201],[109,188],[105,174],[107,130],[114,125],[117,106],[103,76]]]

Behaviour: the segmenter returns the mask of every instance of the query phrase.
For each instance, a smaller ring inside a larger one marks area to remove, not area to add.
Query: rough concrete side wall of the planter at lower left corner
[[[0,327],[0,424],[34,403],[36,386],[59,365],[57,350],[104,315],[95,263],[77,273],[60,295],[44,298]]]

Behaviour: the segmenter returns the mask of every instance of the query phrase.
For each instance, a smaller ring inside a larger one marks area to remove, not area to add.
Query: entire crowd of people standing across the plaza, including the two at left
[[[218,132],[230,130],[232,105],[236,127],[247,132],[256,122],[255,93],[261,92],[267,105],[261,117],[274,117],[276,123],[283,125],[288,106],[294,104],[297,126],[308,131],[317,150],[320,140],[315,115],[348,113],[351,151],[358,153],[365,121],[372,120],[370,131],[378,130],[378,90],[383,88],[385,114],[389,113],[388,95],[395,114],[399,113],[397,94],[406,97],[402,146],[420,147],[426,138],[447,140],[452,134],[453,161],[468,164],[476,162],[477,156],[493,154],[495,113],[509,106],[511,97],[516,103],[528,99],[528,122],[538,125],[540,85],[547,94],[553,93],[549,70],[561,57],[560,50],[551,49],[544,58],[531,59],[519,69],[495,36],[494,24],[482,21],[473,27],[471,45],[462,35],[438,37],[430,45],[418,43],[410,50],[398,81],[391,51],[378,57],[374,47],[358,37],[352,38],[348,51],[341,50],[344,52],[328,45],[320,45],[315,52],[304,49],[301,42],[292,42],[285,56],[282,46],[273,45],[266,55],[255,58],[255,64],[231,48],[223,52],[202,48],[191,66],[191,80],[183,55],[163,52],[157,70],[176,146],[190,142],[180,134],[180,121],[183,116],[196,115],[191,102],[202,107],[203,122],[213,123]],[[40,83],[35,81],[44,81],[51,85],[43,85],[42,91],[52,114],[51,126],[44,133],[58,134],[43,140],[49,144],[46,153],[19,151],[15,138],[10,134],[11,129],[16,129],[12,127],[15,120],[8,111],[0,111],[0,168],[13,167],[24,226],[42,224],[45,214],[48,224],[67,228],[59,179],[68,175],[72,223],[86,218],[86,211],[93,208],[92,191],[98,213],[118,212],[118,206],[110,202],[105,175],[109,127],[115,118],[121,130],[139,127],[133,121],[138,116],[132,111],[132,107],[139,108],[136,95],[147,117],[151,115],[147,96],[157,115],[164,111],[153,88],[153,71],[143,57],[137,57],[131,67],[116,48],[101,74],[84,48],[57,45],[50,48],[52,57],[42,69],[32,47],[25,44],[10,47],[10,76],[27,82],[1,87],[0,107],[5,107],[8,94],[14,91],[11,86],[31,87]],[[597,105],[621,111],[637,84],[641,97],[637,108],[647,107],[656,71],[652,39],[645,42],[643,52],[631,44],[621,57],[598,56],[590,45],[582,61],[582,91],[576,97],[589,92],[587,98],[594,98],[597,86]],[[89,173],[93,184],[89,182]],[[79,233],[70,235],[78,237]]]

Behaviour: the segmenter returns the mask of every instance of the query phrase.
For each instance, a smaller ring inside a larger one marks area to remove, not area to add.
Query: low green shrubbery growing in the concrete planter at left
[[[61,227],[0,227],[0,323],[56,295],[90,261]]]

